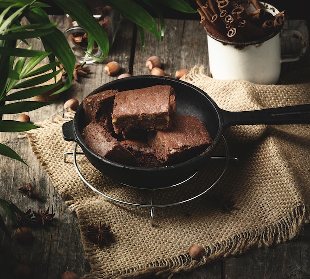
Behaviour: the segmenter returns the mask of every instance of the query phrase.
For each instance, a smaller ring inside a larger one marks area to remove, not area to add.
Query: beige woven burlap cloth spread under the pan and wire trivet
[[[310,68],[282,77],[282,85],[218,81],[195,66],[184,80],[209,94],[220,108],[243,111],[310,103]],[[283,84],[290,83],[289,85]],[[294,81],[296,83],[294,84]],[[72,116],[72,115],[71,115]],[[206,194],[178,205],[150,208],[112,202],[92,191],[76,174],[73,142],[62,137],[70,117],[36,123],[27,133],[30,146],[53,185],[76,211],[92,274],[85,278],[125,278],[151,273],[171,277],[221,256],[270,246],[294,238],[308,223],[310,209],[310,125],[235,126],[225,131],[229,155],[226,171]],[[218,155],[226,154],[223,146]],[[114,198],[150,204],[151,193],[103,177],[84,155],[77,163],[86,180]],[[225,160],[210,163],[182,186],[155,191],[155,205],[184,201],[206,190],[222,172]],[[85,233],[91,223],[107,223],[113,239],[98,248]],[[205,256],[188,254],[191,244],[202,245]]]

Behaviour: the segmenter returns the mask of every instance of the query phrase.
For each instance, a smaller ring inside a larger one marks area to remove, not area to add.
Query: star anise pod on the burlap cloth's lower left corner
[[[88,226],[86,236],[88,239],[95,242],[98,247],[101,247],[103,244],[107,244],[108,239],[112,237],[111,226],[107,226],[106,223],[101,224],[101,222],[97,225],[92,223]]]

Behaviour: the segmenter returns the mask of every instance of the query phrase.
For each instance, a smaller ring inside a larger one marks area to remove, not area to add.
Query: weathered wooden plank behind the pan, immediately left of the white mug
[[[137,40],[134,75],[148,75],[145,62],[150,56],[158,56],[165,74],[175,77],[178,69],[190,70],[195,65],[204,65],[208,73],[207,35],[196,20],[167,19],[166,34],[161,42],[150,33],[145,33],[146,48],[142,50]]]

